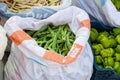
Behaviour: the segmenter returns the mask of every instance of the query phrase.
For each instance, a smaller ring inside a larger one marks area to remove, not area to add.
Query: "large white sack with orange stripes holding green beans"
[[[23,31],[39,30],[49,23],[69,24],[76,35],[67,56],[39,47]],[[5,80],[90,80],[93,72],[93,55],[88,43],[90,20],[82,9],[71,6],[43,20],[14,16],[6,22],[5,30],[13,41],[5,65]]]

